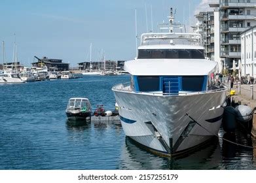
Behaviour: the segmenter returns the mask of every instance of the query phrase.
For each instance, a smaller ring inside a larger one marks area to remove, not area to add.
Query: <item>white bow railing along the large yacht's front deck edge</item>
[[[128,92],[128,93],[139,93],[143,95],[156,95],[156,96],[184,96],[184,95],[198,95],[202,93],[215,93],[215,92],[223,92],[227,91],[228,88],[218,88],[216,90],[206,90],[200,92],[181,92],[181,93],[162,93],[162,92],[134,92],[130,87],[130,82],[126,82],[124,84],[117,84],[113,86],[112,90],[119,91],[119,92]]]

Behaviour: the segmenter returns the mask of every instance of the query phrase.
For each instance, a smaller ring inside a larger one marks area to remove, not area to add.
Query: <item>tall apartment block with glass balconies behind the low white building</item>
[[[240,33],[256,25],[256,0],[219,0],[221,58],[232,69],[233,60],[241,59]]]

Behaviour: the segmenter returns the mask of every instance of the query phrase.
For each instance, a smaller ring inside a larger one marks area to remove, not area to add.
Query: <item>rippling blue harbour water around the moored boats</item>
[[[0,85],[0,169],[256,169],[252,150],[219,140],[170,161],[134,145],[120,124],[67,122],[69,98],[88,97],[94,108],[113,110],[111,87],[128,80],[84,76]],[[251,145],[243,133],[230,138]]]

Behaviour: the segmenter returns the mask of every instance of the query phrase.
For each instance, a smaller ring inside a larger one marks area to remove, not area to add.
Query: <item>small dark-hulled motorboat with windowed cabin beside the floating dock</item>
[[[67,104],[65,114],[69,120],[86,120],[91,117],[91,105],[87,98],[71,98]]]

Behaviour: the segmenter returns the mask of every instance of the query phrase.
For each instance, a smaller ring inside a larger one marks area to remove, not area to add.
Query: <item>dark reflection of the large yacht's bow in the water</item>
[[[214,139],[185,157],[170,159],[150,154],[126,137],[119,169],[218,169],[220,161],[218,139]]]

